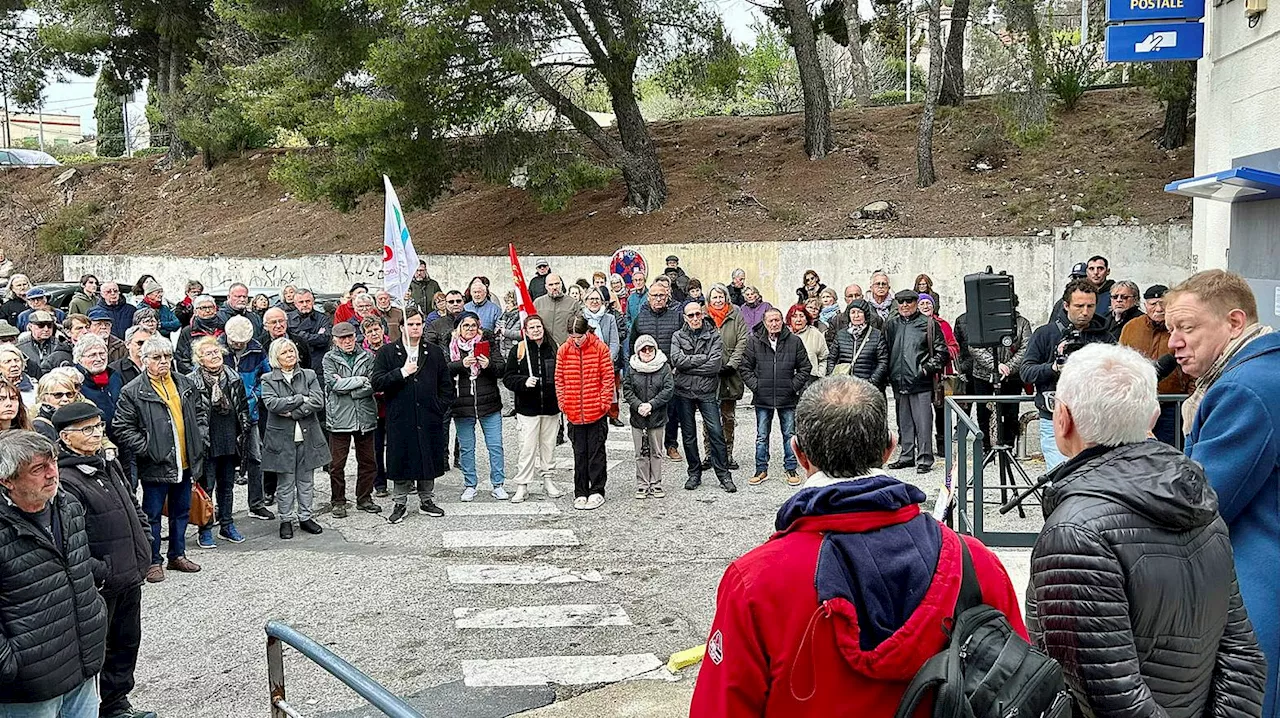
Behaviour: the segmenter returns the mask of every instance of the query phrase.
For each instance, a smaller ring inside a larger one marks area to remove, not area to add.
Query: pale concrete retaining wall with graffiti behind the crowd
[[[1112,279],[1132,279],[1139,287],[1174,284],[1194,273],[1190,228],[1183,225],[1085,227],[1059,229],[1052,237],[956,237],[822,239],[813,242],[723,242],[699,244],[646,244],[640,248],[650,267],[663,265],[667,255],[678,255],[690,276],[727,282],[733,267],[746,270],[748,283],[760,287],[776,305],[795,302],[795,289],[806,269],[842,291],[858,283],[868,289],[876,269],[890,273],[893,287],[911,284],[916,274],[928,274],[942,297],[942,315],[964,311],[964,275],[992,265],[1016,278],[1021,307],[1033,323],[1043,321],[1051,302],[1074,262],[1093,255],[1111,261]],[[471,276],[489,276],[497,288],[509,287],[507,257],[428,255],[431,276],[445,288],[462,287]],[[554,271],[567,282],[590,278],[605,269],[608,257],[548,257]],[[532,257],[522,256],[525,276],[534,275]],[[169,297],[180,296],[188,279],[205,287],[244,282],[251,287],[310,285],[316,291],[343,292],[356,282],[381,284],[381,261],[372,255],[316,255],[283,259],[253,257],[156,257],[132,255],[68,256],[65,278],[83,273],[100,279],[128,280],[155,275]]]

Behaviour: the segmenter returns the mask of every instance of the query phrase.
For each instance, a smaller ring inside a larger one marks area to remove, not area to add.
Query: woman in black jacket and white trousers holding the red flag
[[[512,503],[525,500],[534,471],[541,474],[548,497],[563,495],[552,481],[556,475],[556,433],[561,425],[559,402],[556,401],[557,349],[543,317],[535,314],[525,319],[525,339],[507,355],[502,383],[516,395],[516,425],[520,427],[520,463]]]

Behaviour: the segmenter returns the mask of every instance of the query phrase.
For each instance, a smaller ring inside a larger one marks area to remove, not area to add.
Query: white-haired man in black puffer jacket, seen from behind
[[[1266,660],[1198,463],[1147,434],[1156,370],[1091,344],[1062,367],[1027,627],[1091,718],[1257,718]]]

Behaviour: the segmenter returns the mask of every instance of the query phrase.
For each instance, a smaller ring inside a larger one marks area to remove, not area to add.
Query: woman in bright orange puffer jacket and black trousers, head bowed
[[[581,315],[570,320],[568,340],[556,356],[556,397],[568,420],[573,444],[573,508],[604,503],[605,416],[613,403],[613,361],[609,347]]]

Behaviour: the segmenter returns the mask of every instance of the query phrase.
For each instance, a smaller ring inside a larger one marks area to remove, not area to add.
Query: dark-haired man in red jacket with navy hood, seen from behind
[[[887,416],[884,395],[854,378],[823,379],[800,399],[792,442],[809,479],[777,532],[721,580],[692,718],[891,718],[946,645],[961,540],[983,602],[1027,637],[1000,559],[881,470],[896,444]]]

